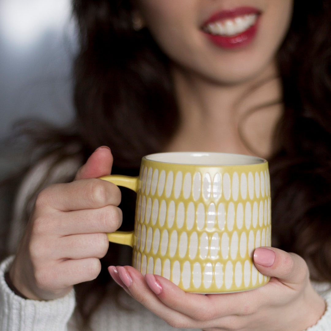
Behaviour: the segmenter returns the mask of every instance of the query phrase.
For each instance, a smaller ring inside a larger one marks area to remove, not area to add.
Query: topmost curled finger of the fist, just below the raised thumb
[[[49,207],[63,212],[118,206],[121,192],[115,184],[101,179],[81,179],[71,183],[53,184],[42,190],[36,208]]]

